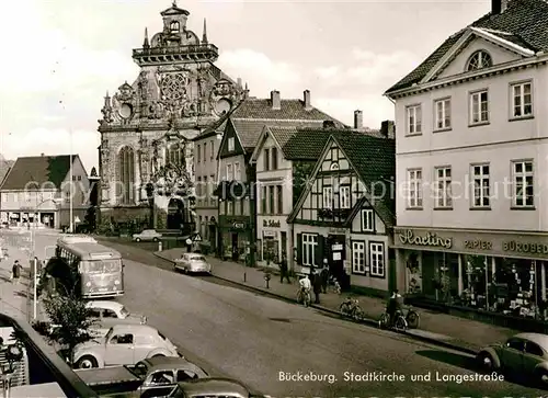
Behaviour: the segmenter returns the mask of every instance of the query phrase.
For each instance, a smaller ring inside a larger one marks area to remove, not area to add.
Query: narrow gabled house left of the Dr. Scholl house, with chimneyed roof
[[[242,261],[246,252],[255,254],[260,248],[256,237],[255,162],[252,155],[264,126],[270,127],[320,127],[330,123],[336,127],[344,124],[312,106],[310,91],[302,92],[302,99],[283,99],[279,91],[271,91],[267,99],[244,94],[244,100],[228,114],[222,138],[217,151],[218,185],[218,241],[221,255]],[[275,159],[273,157],[275,155]],[[270,164],[281,164],[281,157],[270,152]],[[283,181],[276,175],[277,183]],[[275,181],[271,181],[274,184]],[[252,249],[252,250],[251,250]]]

